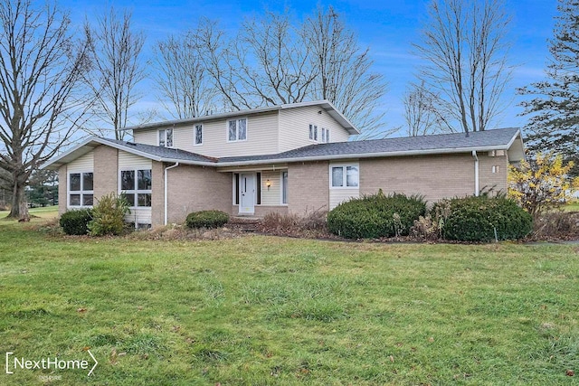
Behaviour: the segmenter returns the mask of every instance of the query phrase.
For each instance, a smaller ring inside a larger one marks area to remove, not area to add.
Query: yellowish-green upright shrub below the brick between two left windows
[[[125,214],[129,211],[127,199],[110,193],[100,197],[92,210],[90,236],[119,235],[125,230]]]

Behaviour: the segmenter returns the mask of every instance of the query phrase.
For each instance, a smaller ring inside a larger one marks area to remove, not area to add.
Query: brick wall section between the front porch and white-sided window
[[[305,162],[288,165],[288,210],[304,214],[327,211],[329,204],[329,163]]]

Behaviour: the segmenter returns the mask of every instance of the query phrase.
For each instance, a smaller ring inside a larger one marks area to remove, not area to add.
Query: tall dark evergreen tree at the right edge
[[[559,0],[555,36],[549,41],[552,54],[546,67],[547,80],[532,83],[522,94],[533,99],[521,103],[531,114],[527,126],[529,149],[555,152],[574,161],[579,157],[579,1]]]

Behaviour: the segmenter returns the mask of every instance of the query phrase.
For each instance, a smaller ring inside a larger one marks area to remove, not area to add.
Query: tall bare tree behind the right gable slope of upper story
[[[333,7],[318,7],[302,30],[303,44],[315,70],[314,99],[327,99],[368,137],[383,126],[380,99],[386,93],[384,76],[372,72],[369,49],[361,49]]]

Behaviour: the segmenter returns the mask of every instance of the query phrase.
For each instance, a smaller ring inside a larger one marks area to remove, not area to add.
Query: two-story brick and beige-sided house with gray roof
[[[418,193],[431,202],[506,190],[520,161],[517,128],[349,141],[358,130],[326,100],[138,127],[134,142],[91,137],[52,159],[59,212],[124,193],[138,228],[189,212],[233,215],[329,210],[350,197]]]

